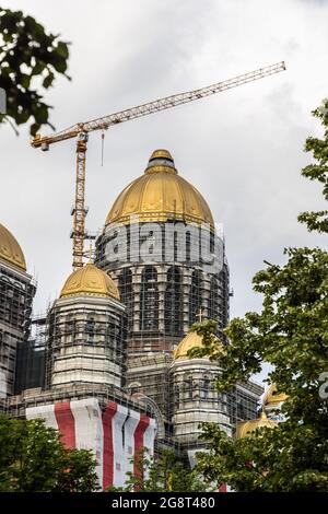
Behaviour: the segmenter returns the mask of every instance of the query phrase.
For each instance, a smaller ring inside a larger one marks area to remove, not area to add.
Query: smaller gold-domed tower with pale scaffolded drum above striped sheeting
[[[92,262],[73,271],[48,324],[48,387],[125,385],[125,306],[108,274]]]

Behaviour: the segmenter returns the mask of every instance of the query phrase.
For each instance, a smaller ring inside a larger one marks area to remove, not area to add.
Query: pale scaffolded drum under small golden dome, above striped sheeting
[[[59,299],[47,316],[45,388],[125,386],[126,313],[107,297]]]

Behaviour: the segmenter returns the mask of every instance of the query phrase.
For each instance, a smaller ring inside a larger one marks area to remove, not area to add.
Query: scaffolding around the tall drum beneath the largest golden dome
[[[140,224],[137,230],[142,233],[145,225]],[[149,351],[171,353],[198,320],[200,309],[204,318],[218,320],[221,337],[229,320],[229,267],[222,258],[220,269],[207,270],[201,260],[204,231],[189,225],[186,230],[181,222],[156,225],[162,242],[148,260],[136,255],[136,229],[132,225],[114,226],[113,230],[109,226],[96,242],[96,265],[116,281],[120,300],[127,306],[129,357]],[[117,240],[126,241],[126,244],[118,244],[115,260],[107,260],[106,246],[110,244],[113,233],[120,231]],[[168,241],[167,233],[172,235]],[[209,246],[215,243],[218,248],[222,246],[221,240],[211,231],[207,237]],[[140,236],[140,245],[144,243],[143,238]]]

